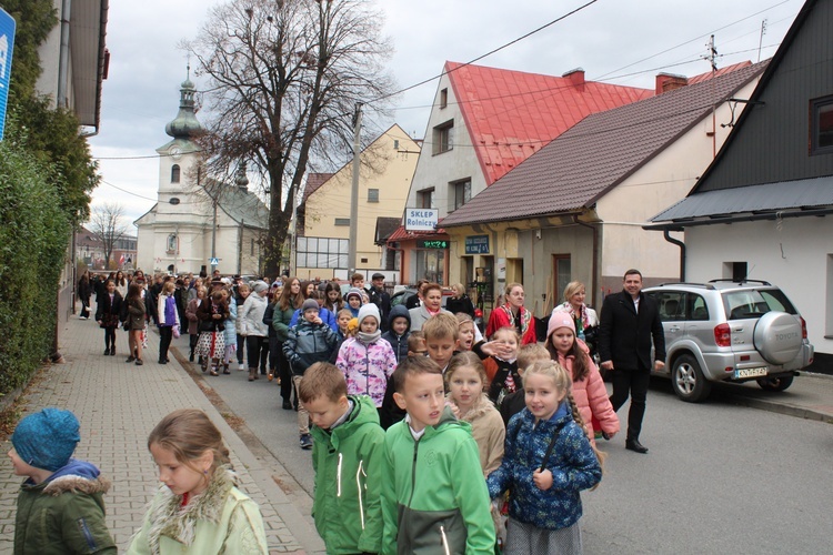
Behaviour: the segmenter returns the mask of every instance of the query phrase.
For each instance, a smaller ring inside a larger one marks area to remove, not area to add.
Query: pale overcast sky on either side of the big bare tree
[[[242,1],[242,0],[237,0]],[[378,0],[393,39],[390,69],[400,88],[432,78],[446,60],[465,62],[586,3],[588,0]],[[170,138],[164,125],[179,108],[185,54],[218,0],[110,2],[101,130],[90,139],[101,185],[92,205],[118,202],[132,221],[155,202],[155,149]],[[561,75],[583,68],[588,80],[654,87],[659,72],[694,75],[714,33],[719,67],[757,61],[781,43],[803,0],[598,0],[592,6],[478,63]],[[208,83],[195,79],[198,90]],[[392,121],[422,138],[436,81],[401,94]],[[372,111],[365,118],[373,118]],[[199,115],[198,115],[199,118]],[[141,158],[148,157],[148,158]],[[347,161],[347,160],[345,160]],[[134,228],[133,228],[134,230]]]

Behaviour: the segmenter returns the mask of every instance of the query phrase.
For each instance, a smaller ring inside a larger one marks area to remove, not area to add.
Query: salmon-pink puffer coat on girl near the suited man
[[[599,373],[599,369],[588,354],[588,347],[581,340],[578,341],[584,353],[584,362],[590,366],[584,380],[576,382],[573,377],[573,362],[575,362],[573,355],[563,356],[559,353],[558,363],[570,372],[570,376],[573,377],[573,400],[575,401],[575,406],[579,407],[581,420],[584,421],[584,425],[588,428],[590,442],[595,443],[593,418],[599,422],[602,432],[613,435],[619,432],[619,416],[613,411],[613,405],[611,405],[608,397],[608,389],[604,386],[604,381]]]

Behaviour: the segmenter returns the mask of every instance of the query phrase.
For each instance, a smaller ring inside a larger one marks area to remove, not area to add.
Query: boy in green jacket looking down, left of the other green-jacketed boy
[[[348,395],[344,375],[328,362],[307,369],[298,396],[313,424],[312,517],[327,553],[380,553],[384,431],[373,401]]]

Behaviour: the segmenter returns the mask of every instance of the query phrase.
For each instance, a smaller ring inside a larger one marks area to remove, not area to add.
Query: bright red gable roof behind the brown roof
[[[478,161],[491,185],[591,113],[653,95],[652,90],[445,62]]]

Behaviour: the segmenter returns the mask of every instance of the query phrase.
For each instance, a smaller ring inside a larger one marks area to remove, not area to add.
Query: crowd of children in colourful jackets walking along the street
[[[312,450],[315,471],[313,516],[328,553],[581,553],[580,492],[602,477],[595,433],[611,437],[619,421],[574,319],[553,313],[545,347],[519,346],[518,326],[476,341],[471,315],[439,309],[438,287],[423,285],[425,304],[387,315],[360,287],[341,300],[335,289],[318,294],[297,279],[271,292],[255,282],[242,302],[222,287],[210,294],[200,287],[184,311],[191,359],[199,355],[213,375],[229,373],[242,336],[249,380],[268,366],[269,380],[281,383],[283,407],[297,404],[300,446]],[[162,325],[179,324],[170,296],[163,287]],[[137,330],[141,302],[131,286],[126,304]],[[237,317],[230,304],[241,305]],[[107,314],[102,307],[96,317],[104,324]],[[267,349],[278,356],[269,360]],[[140,346],[131,345],[134,353],[141,361]],[[33,495],[64,476],[92,484],[73,490],[87,500],[78,506],[89,512],[90,529],[43,531],[19,509],[16,543],[83,537],[102,546],[97,553],[112,546],[103,524],[107,482],[94,466],[70,460],[77,431],[71,413],[46,410],[21,421],[10,456],[16,473],[29,477],[19,507],[29,500],[53,504]],[[60,451],[49,451],[53,443]],[[170,414],[148,448],[162,485],[128,553],[265,553],[258,506],[237,490],[228,450],[203,413]]]

